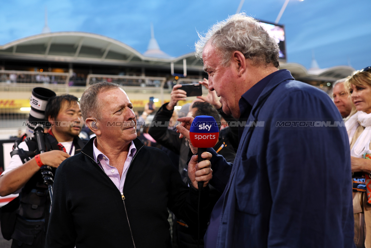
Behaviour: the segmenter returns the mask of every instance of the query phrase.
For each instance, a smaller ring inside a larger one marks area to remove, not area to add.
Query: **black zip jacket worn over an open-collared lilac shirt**
[[[198,191],[183,183],[163,151],[135,139],[120,192],[94,161],[93,140],[56,171],[46,247],[171,247],[167,207],[197,228]],[[208,187],[201,191],[203,225],[208,193]]]

